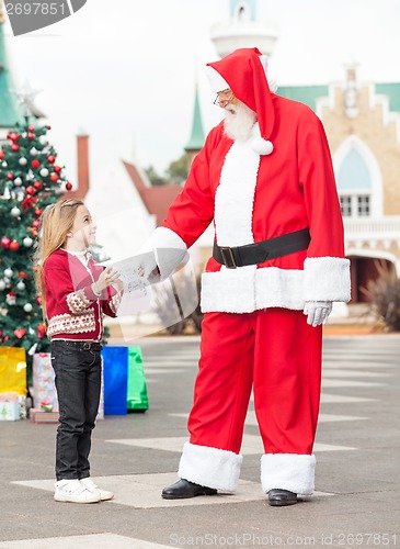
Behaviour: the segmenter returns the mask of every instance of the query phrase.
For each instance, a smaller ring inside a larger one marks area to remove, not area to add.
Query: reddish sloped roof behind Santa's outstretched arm
[[[149,187],[134,164],[124,160],[123,164],[139,192],[147,211],[149,214],[156,215],[157,226],[160,226],[167,217],[168,209],[181,192],[182,188],[179,184]]]

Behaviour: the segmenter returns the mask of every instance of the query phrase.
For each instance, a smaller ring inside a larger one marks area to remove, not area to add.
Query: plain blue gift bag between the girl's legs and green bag
[[[104,415],[126,415],[128,348],[103,347]]]

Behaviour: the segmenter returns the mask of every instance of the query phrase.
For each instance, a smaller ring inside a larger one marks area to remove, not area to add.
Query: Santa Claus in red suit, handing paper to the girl
[[[331,155],[318,116],[270,90],[256,48],[207,72],[225,120],[152,237],[155,249],[186,250],[215,225],[190,440],[162,497],[236,491],[253,390],[262,488],[271,505],[292,505],[315,489],[322,324],[350,300]],[[158,257],[167,277],[173,265]]]

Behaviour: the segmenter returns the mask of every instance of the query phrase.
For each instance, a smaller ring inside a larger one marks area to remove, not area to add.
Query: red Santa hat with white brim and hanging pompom
[[[271,155],[274,149],[270,137],[275,113],[266,79],[266,60],[256,47],[243,47],[206,67],[213,91],[229,88],[239,101],[256,113],[261,136],[253,137],[251,146],[259,155]]]

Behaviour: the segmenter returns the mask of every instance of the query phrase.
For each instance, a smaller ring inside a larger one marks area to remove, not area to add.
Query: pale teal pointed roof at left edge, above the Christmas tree
[[[7,60],[4,25],[0,20],[0,127],[13,127],[21,122],[21,112],[12,94],[12,76]]]

